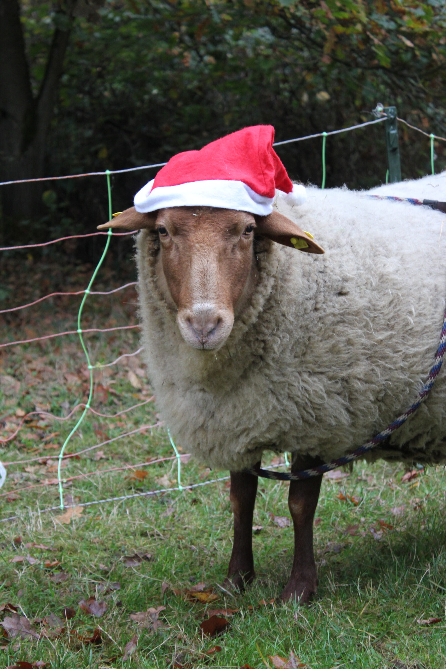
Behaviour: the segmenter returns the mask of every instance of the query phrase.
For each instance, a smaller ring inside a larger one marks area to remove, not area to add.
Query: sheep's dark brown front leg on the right
[[[308,469],[320,464],[315,460],[295,460],[292,472]],[[284,601],[298,599],[300,603],[308,603],[318,587],[316,565],[313,551],[313,519],[320,492],[322,476],[290,483],[288,506],[294,524],[294,561],[290,580],[280,595]]]

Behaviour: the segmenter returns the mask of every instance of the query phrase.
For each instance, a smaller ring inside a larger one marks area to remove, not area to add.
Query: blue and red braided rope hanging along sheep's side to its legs
[[[443,318],[443,329],[441,330],[439,347],[437,349],[437,353],[435,353],[434,363],[431,367],[431,371],[429,372],[429,376],[427,377],[426,383],[419,391],[417,399],[415,400],[413,405],[409,407],[409,409],[407,409],[404,413],[401,413],[401,415],[399,415],[399,417],[395,419],[393,423],[388,425],[386,429],[383,429],[382,432],[376,435],[376,437],[370,439],[370,441],[360,446],[360,448],[357,448],[356,451],[346,456],[342,456],[342,458],[338,458],[338,460],[333,460],[332,462],[328,462],[327,464],[321,464],[318,467],[312,467],[310,469],[302,470],[302,472],[293,472],[292,474],[288,472],[270,472],[269,470],[261,469],[260,467],[251,467],[250,469],[245,470],[245,472],[249,472],[249,474],[253,474],[254,476],[259,476],[261,478],[272,478],[276,481],[300,481],[304,478],[311,478],[312,476],[322,476],[322,474],[325,474],[326,472],[330,472],[331,470],[336,469],[337,467],[340,467],[344,464],[348,464],[348,462],[353,462],[353,460],[361,458],[364,455],[364,453],[372,450],[372,448],[378,446],[378,444],[381,444],[381,442],[383,442],[386,438],[388,438],[388,436],[390,436],[393,432],[395,432],[396,429],[401,427],[401,425],[403,425],[407,421],[410,415],[412,415],[413,413],[415,413],[415,411],[417,411],[419,405],[421,405],[421,403],[426,399],[427,395],[429,395],[429,392],[431,391],[435,383],[435,379],[437,379],[437,376],[439,375],[445,353],[446,353],[446,312]]]

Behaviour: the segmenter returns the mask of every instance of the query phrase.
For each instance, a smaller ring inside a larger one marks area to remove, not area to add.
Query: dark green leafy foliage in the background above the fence
[[[165,161],[247,124],[278,140],[370,120],[377,102],[446,134],[446,9],[429,0],[107,0],[78,16],[47,147],[47,173]],[[62,3],[23,2],[35,88]],[[57,11],[56,11],[57,10]],[[82,13],[82,12],[81,12]],[[58,18],[59,17],[59,18]],[[429,172],[429,140],[401,132],[403,178]],[[445,168],[436,147],[436,171]],[[320,183],[320,140],[280,155],[292,177]],[[384,130],[327,145],[327,186],[384,179]],[[118,209],[153,171],[116,177]],[[57,215],[104,219],[97,181],[64,190]],[[67,190],[70,189],[70,193]]]

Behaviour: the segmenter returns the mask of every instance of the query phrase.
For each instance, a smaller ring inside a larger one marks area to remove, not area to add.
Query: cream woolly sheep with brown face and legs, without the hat
[[[225,587],[242,589],[255,575],[257,478],[245,470],[263,452],[291,452],[294,472],[330,462],[414,401],[445,313],[444,214],[369,195],[444,201],[445,182],[443,173],[370,193],[309,187],[302,206],[277,197],[266,217],[132,207],[101,226],[140,229],[142,344],[162,417],[185,450],[231,470]],[[296,224],[324,255],[285,245]],[[367,458],[445,462],[443,372],[417,413]],[[316,592],[312,524],[321,480],[290,483],[295,552],[284,600],[305,603]]]

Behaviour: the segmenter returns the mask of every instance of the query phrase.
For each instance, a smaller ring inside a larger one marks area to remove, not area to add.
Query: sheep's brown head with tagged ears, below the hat
[[[277,212],[259,217],[233,209],[169,207],[138,213],[132,207],[99,227],[148,228],[158,234],[158,285],[177,310],[183,339],[202,350],[225,343],[234,318],[253,294],[254,235],[323,253],[296,223]]]

